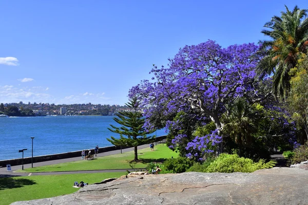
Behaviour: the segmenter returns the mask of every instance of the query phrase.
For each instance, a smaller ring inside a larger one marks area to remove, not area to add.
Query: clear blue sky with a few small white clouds
[[[124,105],[179,48],[257,43],[308,1],[2,1],[0,103]]]

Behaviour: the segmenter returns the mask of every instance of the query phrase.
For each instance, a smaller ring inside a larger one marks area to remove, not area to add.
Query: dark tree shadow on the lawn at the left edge
[[[14,189],[14,188],[24,187],[24,186],[27,186],[27,185],[35,185],[36,184],[31,179],[17,179],[16,176],[14,176],[14,177],[11,177],[11,176],[0,178],[0,190]]]

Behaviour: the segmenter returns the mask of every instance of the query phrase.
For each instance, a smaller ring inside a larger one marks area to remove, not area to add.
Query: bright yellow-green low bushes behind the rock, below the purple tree
[[[254,162],[252,159],[239,157],[237,154],[222,153],[215,161],[210,163],[206,172],[254,172],[259,169],[273,168],[276,163],[273,160],[265,163],[264,159]]]

